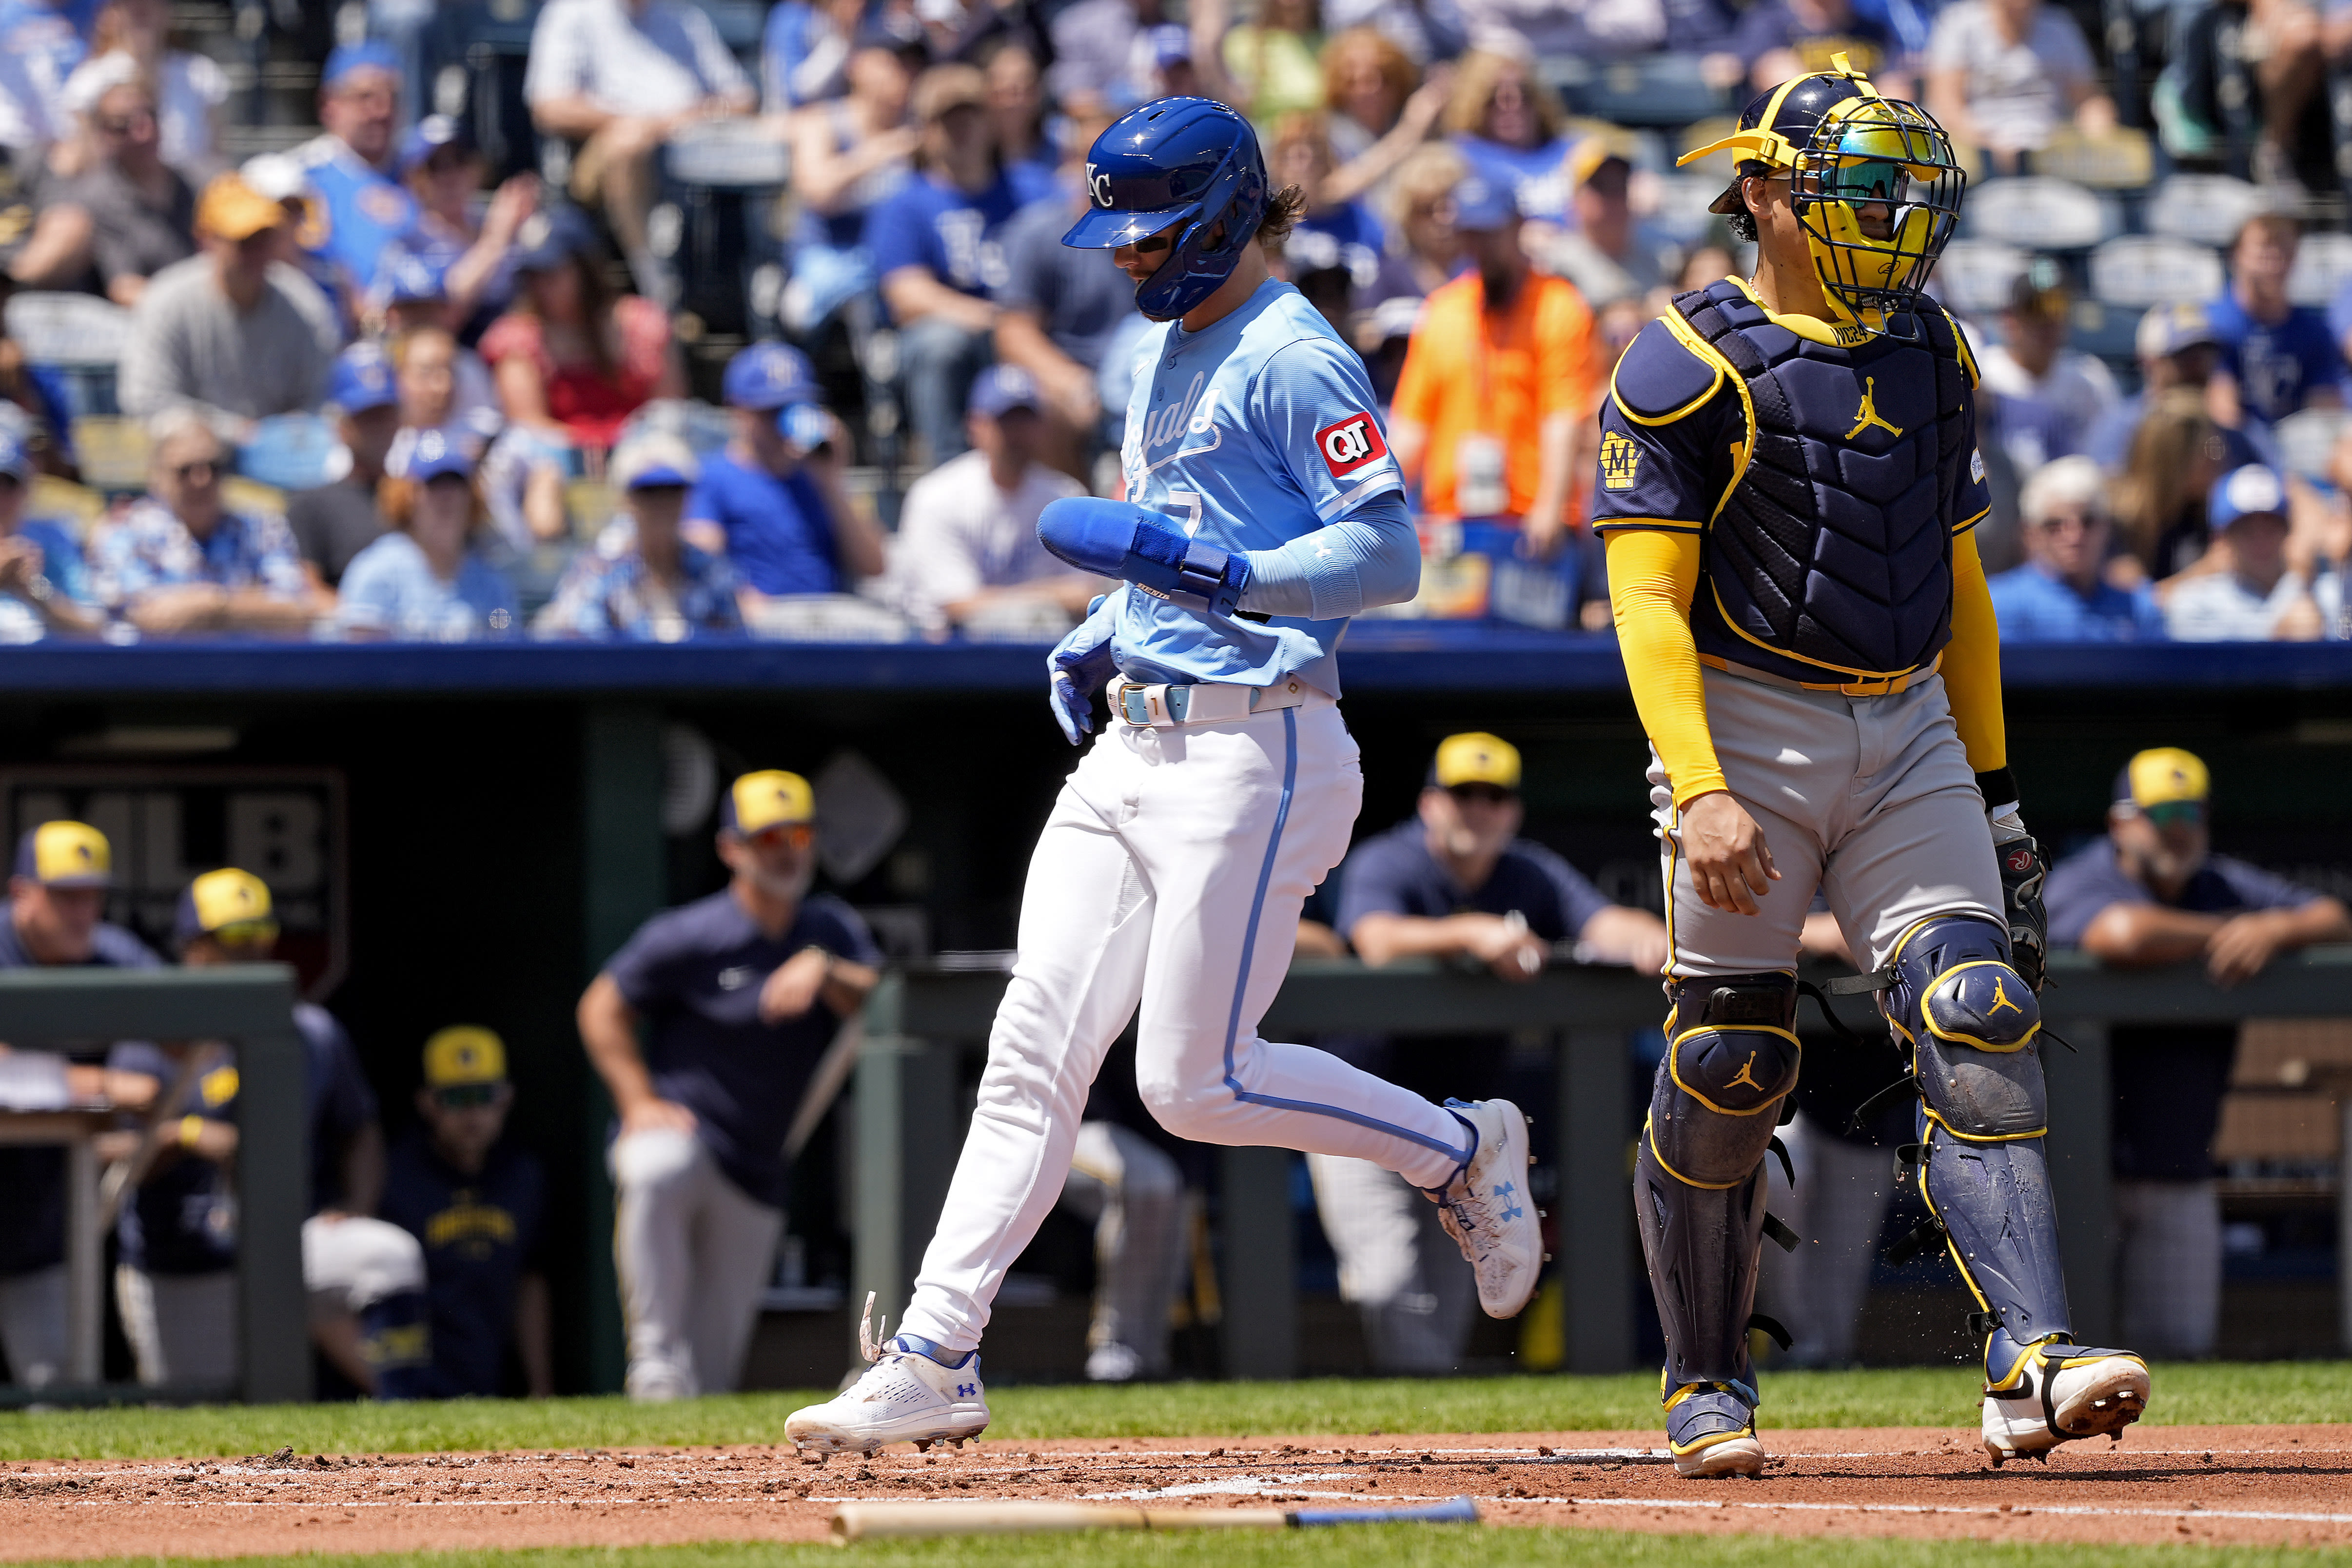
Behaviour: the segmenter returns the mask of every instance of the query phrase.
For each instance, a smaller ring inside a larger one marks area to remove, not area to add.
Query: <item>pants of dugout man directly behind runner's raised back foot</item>
[[[1364,1316],[1374,1371],[1454,1371],[1477,1276],[1437,1222],[1437,1204],[1369,1159],[1308,1154],[1308,1175],[1324,1237],[1338,1253],[1341,1300]]]

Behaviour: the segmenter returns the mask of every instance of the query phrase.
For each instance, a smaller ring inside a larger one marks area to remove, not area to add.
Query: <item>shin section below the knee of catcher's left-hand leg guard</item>
[[[1769,1138],[1771,1119],[1757,1121]],[[1665,1392],[1686,1382],[1752,1385],[1748,1314],[1764,1246],[1762,1147],[1745,1180],[1693,1187],[1661,1166],[1644,1138],[1632,1161],[1632,1208],[1665,1331]]]

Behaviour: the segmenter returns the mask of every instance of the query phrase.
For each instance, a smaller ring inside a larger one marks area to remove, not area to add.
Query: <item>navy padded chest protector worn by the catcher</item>
[[[1675,310],[1745,393],[1745,465],[1705,536],[1698,649],[1889,677],[1952,637],[1952,498],[1971,458],[1969,376],[1950,317],[1851,348],[1776,324],[1731,280]],[[1780,656],[1780,658],[1773,658]],[[1818,677],[1816,677],[1818,679]]]

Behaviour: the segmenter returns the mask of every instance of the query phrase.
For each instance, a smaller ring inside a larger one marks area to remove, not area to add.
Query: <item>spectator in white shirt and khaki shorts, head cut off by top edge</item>
[[[579,141],[572,195],[602,205],[637,292],[668,306],[673,277],[644,242],[654,158],[680,127],[748,115],[750,78],[684,0],[553,0],[522,75],[532,122]]]

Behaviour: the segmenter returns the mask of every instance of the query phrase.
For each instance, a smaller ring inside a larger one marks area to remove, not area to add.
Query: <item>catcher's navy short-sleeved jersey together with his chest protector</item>
[[[1922,670],[1952,635],[1952,538],[1990,505],[1976,364],[1933,306],[1905,336],[1675,296],[1602,404],[1595,529],[1703,541],[1703,663],[1804,684]]]

